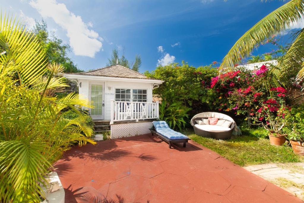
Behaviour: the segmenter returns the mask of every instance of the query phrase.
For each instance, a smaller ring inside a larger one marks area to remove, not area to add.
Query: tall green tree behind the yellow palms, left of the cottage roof
[[[47,31],[47,23],[43,19],[36,20],[33,33],[45,51],[48,62],[60,63],[64,68],[64,72],[83,72],[78,69],[74,61],[67,55],[71,51],[70,45],[63,44],[63,41],[57,38],[54,32],[49,33]]]

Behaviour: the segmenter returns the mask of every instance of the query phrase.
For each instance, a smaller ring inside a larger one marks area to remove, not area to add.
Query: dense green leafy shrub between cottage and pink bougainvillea
[[[153,93],[160,96],[168,103],[180,102],[194,111],[209,109],[214,99],[210,91],[206,89],[211,78],[216,76],[215,65],[195,68],[182,61],[182,64],[174,63],[166,66],[159,66],[152,72],[145,72],[148,77],[163,80],[164,83],[154,89]],[[211,92],[212,93],[212,92]],[[207,104],[204,107],[202,104]]]

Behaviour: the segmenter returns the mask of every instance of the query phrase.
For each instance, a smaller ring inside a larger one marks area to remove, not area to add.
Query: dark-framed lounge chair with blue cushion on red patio
[[[186,142],[190,140],[186,135],[169,128],[166,121],[153,121],[152,123],[154,126],[150,129],[152,135],[156,134],[159,138],[167,142],[170,149],[172,143],[184,143],[183,147],[186,147]]]

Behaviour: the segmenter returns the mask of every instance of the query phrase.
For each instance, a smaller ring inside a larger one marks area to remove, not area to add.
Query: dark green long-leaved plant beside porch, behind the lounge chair
[[[159,105],[159,119],[166,121],[170,128],[178,128],[180,131],[185,128],[187,114],[191,108],[183,106],[181,103],[168,104],[166,100],[163,100]]]

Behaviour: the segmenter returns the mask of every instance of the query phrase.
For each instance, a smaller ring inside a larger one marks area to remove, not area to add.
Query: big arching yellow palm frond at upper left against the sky
[[[24,25],[6,15],[0,22],[0,63],[14,61],[20,82],[32,84],[46,72],[46,57],[38,40]]]

